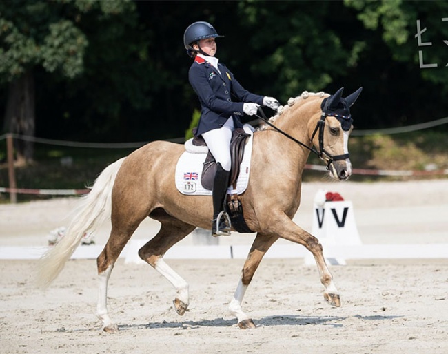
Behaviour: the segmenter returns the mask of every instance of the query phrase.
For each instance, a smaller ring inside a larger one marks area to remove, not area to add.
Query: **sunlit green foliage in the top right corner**
[[[394,60],[418,65],[423,79],[442,84],[445,94],[448,93],[447,1],[345,0],[345,3],[358,11],[358,19],[365,28],[381,32]],[[417,37],[427,44],[418,45]],[[429,63],[437,66],[431,70],[425,67]]]

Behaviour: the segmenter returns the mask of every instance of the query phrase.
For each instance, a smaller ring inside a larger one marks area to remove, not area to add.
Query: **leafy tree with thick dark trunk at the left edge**
[[[0,3],[0,83],[8,84],[3,130],[34,136],[34,71],[73,80],[85,71],[89,48],[85,27],[134,12],[130,1],[3,1]],[[32,160],[29,141],[17,146],[21,160]]]

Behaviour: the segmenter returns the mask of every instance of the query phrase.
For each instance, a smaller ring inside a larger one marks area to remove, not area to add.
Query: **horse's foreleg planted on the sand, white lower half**
[[[241,309],[241,303],[243,302],[247,287],[249,287],[258,265],[269,247],[271,247],[276,240],[278,240],[278,237],[276,236],[263,236],[258,233],[244,263],[241,279],[238,282],[238,287],[236,287],[234,298],[229,304],[229,310],[232,315],[238,318],[238,326],[241,329],[255,328],[252,319],[250,319],[250,317],[248,317]]]

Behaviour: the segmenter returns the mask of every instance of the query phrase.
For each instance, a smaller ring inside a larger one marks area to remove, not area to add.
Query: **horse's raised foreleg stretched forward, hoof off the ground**
[[[285,216],[285,218],[287,218],[287,216]],[[330,305],[339,307],[340,297],[338,294],[338,289],[336,289],[336,286],[334,285],[332,273],[330,273],[327,263],[325,262],[322,244],[320,244],[317,238],[301,229],[301,227],[298,227],[289,218],[287,218],[287,220],[282,220],[282,222],[278,225],[286,225],[285,228],[279,233],[281,238],[302,244],[313,254],[319,271],[320,282],[322,282],[325,287],[323,297]]]

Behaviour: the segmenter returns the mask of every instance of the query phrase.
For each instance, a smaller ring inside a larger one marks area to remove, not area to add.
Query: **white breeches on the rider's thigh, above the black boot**
[[[234,130],[233,120],[229,118],[221,128],[209,130],[202,134],[207,147],[212,153],[216,163],[221,163],[225,171],[230,171],[230,140]]]

